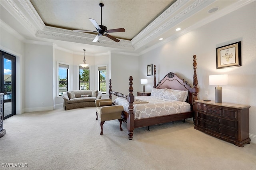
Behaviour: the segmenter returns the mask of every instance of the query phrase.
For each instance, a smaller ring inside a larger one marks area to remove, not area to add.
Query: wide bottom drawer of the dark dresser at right
[[[215,136],[225,137],[225,138],[237,138],[237,130],[233,130],[226,127],[220,127],[218,125],[214,125],[212,123],[208,123],[206,121],[197,120],[199,126],[205,128],[205,132],[210,134],[214,134]]]

